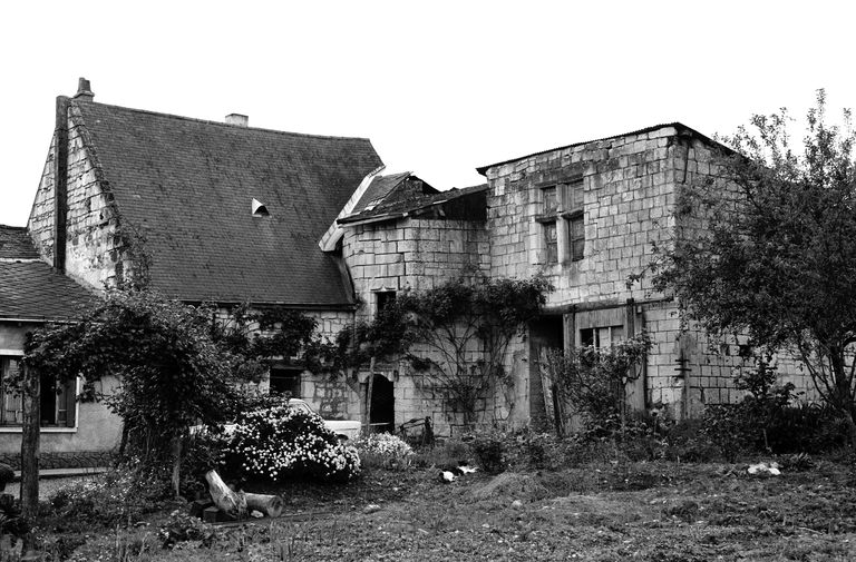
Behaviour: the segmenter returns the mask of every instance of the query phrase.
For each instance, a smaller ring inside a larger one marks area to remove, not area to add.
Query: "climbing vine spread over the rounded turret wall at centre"
[[[479,400],[506,379],[510,339],[541,313],[552,287],[533,279],[451,279],[405,292],[363,328],[364,356],[405,353],[424,386],[471,425]]]

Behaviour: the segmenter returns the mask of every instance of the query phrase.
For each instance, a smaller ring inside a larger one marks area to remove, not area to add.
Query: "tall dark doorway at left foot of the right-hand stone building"
[[[561,314],[542,316],[529,324],[529,423],[537,430],[549,427],[548,412],[553,410],[552,394],[549,388],[544,388],[542,376],[546,354],[549,349],[563,348],[564,323]]]

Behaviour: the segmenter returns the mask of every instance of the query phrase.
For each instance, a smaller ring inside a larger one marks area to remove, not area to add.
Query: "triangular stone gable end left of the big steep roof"
[[[56,158],[55,134],[28,225],[37,249],[49,263],[56,247]],[[130,243],[121,230],[113,194],[100,174],[79,109],[71,102],[68,110],[66,273],[97,290],[115,286],[134,268],[127,253]]]

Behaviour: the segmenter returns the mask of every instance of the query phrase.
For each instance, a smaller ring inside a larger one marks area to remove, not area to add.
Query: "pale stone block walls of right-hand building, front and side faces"
[[[645,404],[667,405],[675,415],[739,400],[742,393],[733,388],[733,375],[752,366],[736,353],[739,342],[713,342],[684,317],[669,294],[654,290],[650,276],[628,283],[649,265],[652,244],[668,245],[674,236],[703,230],[700,216],[679,224],[675,199],[681,185],[721,181],[709,142],[668,126],[542,152],[485,172],[490,275],[546,275],[556,287],[548,296],[547,312],[566,316],[581,305],[621,306],[633,299],[639,322],[654,341],[645,365]],[[575,181],[583,186],[584,257],[547,263],[544,226],[538,220],[545,207],[543,189]],[[683,375],[675,371],[679,358],[687,359],[690,369]],[[784,382],[810,391],[810,382],[791,357],[777,361]]]

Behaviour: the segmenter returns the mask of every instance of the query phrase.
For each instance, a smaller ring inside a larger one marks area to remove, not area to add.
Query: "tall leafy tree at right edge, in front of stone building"
[[[826,121],[824,90],[801,150],[790,118],[753,116],[724,142],[720,177],[679,193],[678,233],[658,248],[656,284],[719,333],[794,349],[856,443],[856,134]]]

